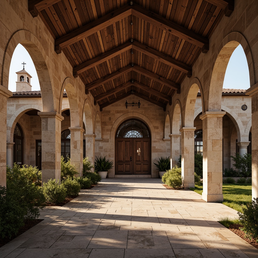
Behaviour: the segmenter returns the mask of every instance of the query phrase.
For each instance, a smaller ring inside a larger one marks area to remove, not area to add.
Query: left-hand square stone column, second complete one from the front
[[[71,164],[75,165],[78,176],[83,170],[83,132],[82,127],[69,127],[71,131]]]

